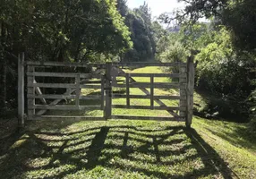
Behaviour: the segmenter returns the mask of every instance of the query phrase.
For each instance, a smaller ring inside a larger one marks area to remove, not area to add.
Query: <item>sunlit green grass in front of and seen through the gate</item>
[[[153,68],[135,72],[152,70],[161,72]],[[149,101],[134,103],[149,105]],[[165,115],[147,110],[114,112]],[[256,178],[256,141],[248,141],[244,129],[245,124],[196,116],[192,129],[177,122],[33,121],[0,141],[0,178]]]

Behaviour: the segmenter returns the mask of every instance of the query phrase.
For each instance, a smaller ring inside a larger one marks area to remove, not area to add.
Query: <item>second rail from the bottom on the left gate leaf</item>
[[[29,106],[29,109],[44,109],[44,110],[86,110],[86,109],[100,109],[100,106],[73,106],[73,105],[35,105]]]

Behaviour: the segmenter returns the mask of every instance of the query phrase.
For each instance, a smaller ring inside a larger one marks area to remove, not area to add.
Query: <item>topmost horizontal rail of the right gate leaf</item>
[[[113,65],[114,66],[136,66],[136,67],[142,67],[142,66],[184,66],[184,67],[186,67],[186,63],[151,63],[151,62],[113,63]]]

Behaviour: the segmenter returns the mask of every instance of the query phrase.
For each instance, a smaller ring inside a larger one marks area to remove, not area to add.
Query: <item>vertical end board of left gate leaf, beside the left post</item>
[[[27,71],[28,72],[34,72],[35,67],[29,65],[27,67]],[[27,94],[28,95],[33,95],[33,96],[35,95],[35,87],[33,86],[34,81],[35,81],[34,76],[28,76],[27,77],[27,82],[28,82]],[[35,106],[35,98],[28,98],[28,107],[33,107],[33,106]],[[35,115],[35,109],[29,108],[28,109],[28,119],[32,120],[34,115]]]

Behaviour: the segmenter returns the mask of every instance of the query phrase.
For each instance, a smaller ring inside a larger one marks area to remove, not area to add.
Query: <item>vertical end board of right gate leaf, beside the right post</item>
[[[185,66],[183,67],[183,66],[180,65],[179,66],[179,73],[183,74],[185,72],[186,72],[186,67]],[[179,77],[180,85],[186,84],[186,82],[187,82],[186,79],[183,78],[182,75],[180,75],[180,77]],[[180,97],[181,97],[180,107],[186,107],[187,101],[184,99],[184,98],[186,98],[186,90],[185,89],[180,89]],[[181,111],[180,110],[180,116],[185,118],[186,111]]]

